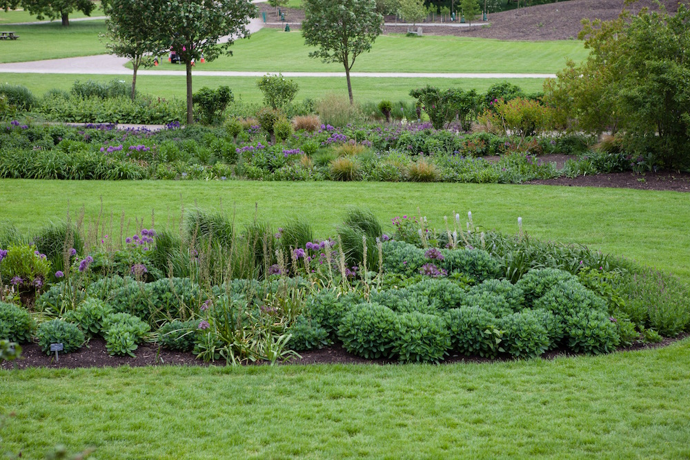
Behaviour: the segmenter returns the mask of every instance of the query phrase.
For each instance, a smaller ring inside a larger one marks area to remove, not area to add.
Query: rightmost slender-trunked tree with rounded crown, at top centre
[[[384,18],[374,0],[305,0],[302,23],[304,43],[319,49],[310,57],[342,63],[347,90],[353,103],[350,70],[359,54],[371,50],[383,32]]]

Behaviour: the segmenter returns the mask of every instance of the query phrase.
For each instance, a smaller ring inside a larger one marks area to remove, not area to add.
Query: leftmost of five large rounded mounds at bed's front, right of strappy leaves
[[[397,314],[378,303],[359,303],[342,318],[338,338],[348,352],[368,359],[390,358],[397,340]]]

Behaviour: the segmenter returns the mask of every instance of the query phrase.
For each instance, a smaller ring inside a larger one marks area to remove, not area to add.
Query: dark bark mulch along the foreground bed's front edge
[[[619,351],[643,350],[645,348],[659,348],[667,346],[673,342],[685,339],[690,334],[680,334],[672,339],[664,339],[660,343],[638,343],[630,347],[620,348]],[[37,343],[28,343],[22,346],[21,358],[17,361],[0,364],[0,369],[25,369],[25,368],[113,368],[117,366],[208,366],[200,359],[195,359],[192,353],[173,352],[164,348],[159,348],[154,344],[144,343],[135,351],[136,357],[112,357],[106,350],[106,342],[101,338],[92,339],[88,346],[82,347],[79,351],[60,354],[59,361],[55,361],[55,354],[50,356],[41,351]],[[364,359],[354,354],[348,353],[340,344],[333,345],[322,350],[311,350],[301,352],[302,359],[292,359],[292,364],[395,364],[397,361],[386,359]],[[544,359],[554,359],[556,357],[576,356],[564,350],[553,350],[543,355]],[[453,354],[446,357],[442,364],[462,363],[462,362],[490,362],[490,361],[510,361],[508,358],[491,360],[480,357],[466,357]],[[223,361],[216,361],[218,366],[224,366]],[[266,363],[262,363],[266,364]]]

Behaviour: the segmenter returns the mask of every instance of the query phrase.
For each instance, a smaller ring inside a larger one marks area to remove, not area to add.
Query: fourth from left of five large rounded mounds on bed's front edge
[[[540,319],[530,310],[503,317],[500,320],[500,327],[504,331],[503,348],[516,358],[536,358],[544,354],[551,341],[549,331]]]

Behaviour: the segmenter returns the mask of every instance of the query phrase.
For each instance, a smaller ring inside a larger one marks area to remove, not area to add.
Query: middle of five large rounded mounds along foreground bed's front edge
[[[477,307],[460,307],[448,310],[446,325],[451,333],[451,345],[462,354],[479,354],[495,358],[501,348],[502,331],[497,328],[493,314]]]

